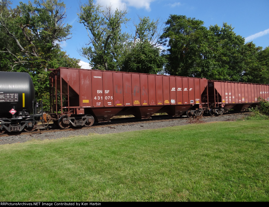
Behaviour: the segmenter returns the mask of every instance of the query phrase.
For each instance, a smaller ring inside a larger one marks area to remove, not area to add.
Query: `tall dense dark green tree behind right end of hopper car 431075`
[[[207,77],[214,64],[211,56],[215,46],[204,22],[182,15],[170,15],[161,40],[167,49],[165,71],[170,75]]]

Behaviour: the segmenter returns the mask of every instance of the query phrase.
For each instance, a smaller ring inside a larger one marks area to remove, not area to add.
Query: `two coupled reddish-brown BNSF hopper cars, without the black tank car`
[[[268,91],[261,84],[59,67],[51,69],[49,115],[61,128],[116,115],[221,115],[255,106],[259,97],[268,100]]]

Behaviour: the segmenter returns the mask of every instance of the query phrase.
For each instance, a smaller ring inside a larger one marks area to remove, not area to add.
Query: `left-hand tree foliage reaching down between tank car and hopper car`
[[[69,39],[72,26],[65,26],[65,4],[58,0],[9,1],[0,6],[0,70],[30,74],[36,99],[49,111],[49,68],[76,67],[79,60],[61,51],[59,42]]]

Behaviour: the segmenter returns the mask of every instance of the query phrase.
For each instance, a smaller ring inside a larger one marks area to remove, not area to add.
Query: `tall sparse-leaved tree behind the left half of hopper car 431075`
[[[101,10],[93,0],[80,6],[79,19],[87,29],[90,42],[81,50],[93,69],[120,70],[128,35],[122,33],[122,24],[129,21],[125,9],[112,12],[111,6]]]

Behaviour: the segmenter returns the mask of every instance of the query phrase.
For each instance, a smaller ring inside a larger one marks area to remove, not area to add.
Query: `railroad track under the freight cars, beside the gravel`
[[[249,112],[243,112],[243,113],[236,113],[238,115],[241,114],[247,114]],[[235,113],[226,113],[221,116],[228,116],[232,115]],[[207,116],[204,116],[207,117]],[[213,116],[214,117],[214,116]],[[190,123],[194,122],[193,118],[187,118],[187,117],[171,117],[168,115],[158,115],[158,116],[153,116],[152,119],[142,119],[137,121],[135,118],[120,118],[120,119],[113,119],[111,122],[103,122],[103,123],[97,123],[94,124],[91,127],[73,127],[73,128],[68,128],[68,129],[59,129],[54,126],[54,124],[50,124],[47,129],[39,125],[36,130],[32,132],[17,132],[17,133],[9,133],[9,134],[1,134],[0,137],[7,137],[7,136],[17,136],[17,135],[27,135],[27,134],[42,134],[46,132],[58,132],[58,131],[75,131],[75,130],[81,130],[81,129],[94,129],[94,128],[99,128],[99,127],[113,127],[113,126],[118,126],[118,125],[129,125],[129,124],[142,124],[142,123],[153,123],[153,122],[162,122],[162,121],[169,121],[169,120],[190,120]]]

